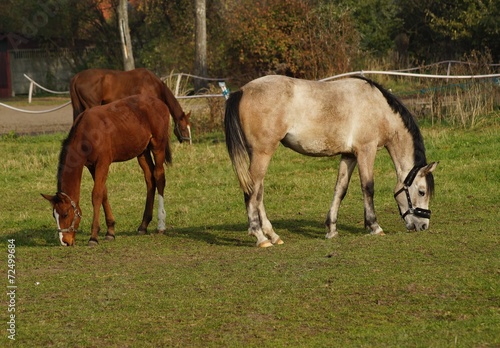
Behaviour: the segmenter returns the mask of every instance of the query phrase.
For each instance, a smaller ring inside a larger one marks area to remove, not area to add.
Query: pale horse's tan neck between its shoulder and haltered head
[[[398,183],[403,183],[416,164],[413,137],[406,129],[398,131],[386,148],[396,168]]]

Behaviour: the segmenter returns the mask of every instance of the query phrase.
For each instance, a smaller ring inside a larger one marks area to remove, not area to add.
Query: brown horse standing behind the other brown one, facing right
[[[181,143],[191,143],[191,113],[185,114],[172,91],[144,68],[130,71],[88,69],[76,74],[70,83],[73,120],[86,109],[134,94],[150,95],[167,104],[175,123],[175,136]]]

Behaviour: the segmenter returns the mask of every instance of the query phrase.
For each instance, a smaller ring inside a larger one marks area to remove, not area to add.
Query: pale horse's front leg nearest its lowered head
[[[373,196],[375,194],[375,184],[373,181],[373,166],[375,164],[375,153],[364,154],[363,157],[358,155],[359,163],[359,178],[361,181],[361,191],[363,192],[364,212],[365,212],[365,227],[370,230],[371,234],[383,235],[384,231],[377,222],[375,215],[375,206]]]

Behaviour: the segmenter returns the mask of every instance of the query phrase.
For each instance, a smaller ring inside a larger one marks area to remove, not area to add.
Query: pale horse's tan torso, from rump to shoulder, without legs
[[[357,153],[386,145],[402,125],[382,93],[360,79],[319,82],[274,75],[242,90],[240,118],[251,147],[281,142],[311,156]]]

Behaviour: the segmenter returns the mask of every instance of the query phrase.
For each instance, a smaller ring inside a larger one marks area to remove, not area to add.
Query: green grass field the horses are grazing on
[[[8,292],[15,267],[17,288],[14,302],[2,302],[0,346],[499,347],[498,119],[471,130],[423,127],[428,159],[440,165],[431,227],[419,233],[404,229],[392,197],[395,172],[381,151],[375,208],[386,236],[366,234],[353,177],[340,237],[325,240],[338,159],[280,147],[266,177],[266,208],[285,244],[268,249],[246,233],[220,133],[173,145],[162,236],[136,234],[142,173],[136,161],[114,164],[108,188],[117,238],[95,248],[86,246],[87,172],[77,246],[59,246],[40,196],[55,192],[64,135],[3,136],[0,269]]]

